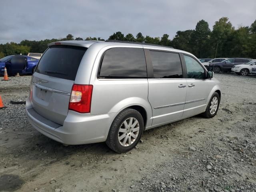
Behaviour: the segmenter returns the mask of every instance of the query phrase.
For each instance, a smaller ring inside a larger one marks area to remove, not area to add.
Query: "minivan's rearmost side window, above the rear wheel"
[[[147,78],[142,48],[116,47],[107,50],[100,68],[104,78]]]

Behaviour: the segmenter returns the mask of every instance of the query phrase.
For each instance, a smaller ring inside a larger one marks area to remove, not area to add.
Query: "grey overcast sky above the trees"
[[[107,39],[114,32],[152,37],[210,29],[225,16],[233,26],[256,20],[256,0],[0,0],[0,43],[88,36]]]

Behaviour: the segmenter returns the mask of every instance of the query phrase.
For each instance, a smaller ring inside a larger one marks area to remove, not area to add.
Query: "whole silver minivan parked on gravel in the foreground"
[[[63,144],[106,142],[122,153],[144,130],[216,115],[220,82],[192,54],[148,44],[48,44],[26,100],[32,126]]]

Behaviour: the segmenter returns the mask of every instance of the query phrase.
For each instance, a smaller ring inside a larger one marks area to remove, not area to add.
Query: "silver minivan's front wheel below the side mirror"
[[[205,112],[203,113],[204,117],[206,118],[213,118],[219,109],[220,106],[220,96],[218,93],[214,92],[214,94],[212,95],[208,106],[206,107]]]

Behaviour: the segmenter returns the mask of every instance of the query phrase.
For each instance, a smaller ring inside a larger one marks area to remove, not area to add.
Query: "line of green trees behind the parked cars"
[[[237,29],[227,17],[222,17],[215,22],[212,31],[208,22],[200,20],[194,30],[177,31],[175,37],[170,40],[168,34],[160,37],[143,36],[139,32],[135,37],[133,34],[115,32],[110,35],[109,40],[121,40],[131,42],[144,42],[191,52],[198,58],[216,57],[247,57],[256,58],[256,20],[251,26],[239,26]],[[47,44],[63,40],[104,40],[100,37],[74,38],[68,34],[66,38],[45,39],[40,41],[22,40],[20,43],[10,42],[0,44],[0,58],[12,54],[28,54],[28,52],[43,53]],[[218,46],[217,52],[216,48]]]

